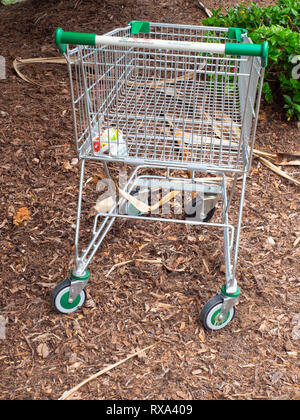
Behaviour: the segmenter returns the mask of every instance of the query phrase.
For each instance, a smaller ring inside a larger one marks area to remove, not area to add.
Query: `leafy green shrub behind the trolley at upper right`
[[[273,102],[274,93],[282,96],[287,119],[300,121],[300,2],[279,0],[274,6],[258,7],[255,3],[222,7],[204,19],[207,26],[237,27],[248,30],[254,43],[269,43],[269,60],[263,94]]]

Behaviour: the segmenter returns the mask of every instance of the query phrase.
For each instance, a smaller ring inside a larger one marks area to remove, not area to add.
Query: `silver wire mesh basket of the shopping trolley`
[[[154,24],[149,34],[138,36],[225,42],[226,31]],[[70,68],[79,153],[95,157],[91,139],[114,127],[127,143],[127,160],[242,169],[247,135],[241,135],[241,101],[246,99],[239,90],[249,93],[247,63],[219,54],[78,47]],[[99,158],[113,159],[109,152]]]

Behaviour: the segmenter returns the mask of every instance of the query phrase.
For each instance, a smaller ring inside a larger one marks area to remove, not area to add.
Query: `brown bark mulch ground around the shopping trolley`
[[[299,399],[299,188],[256,160],[241,234],[242,293],[225,329],[206,332],[199,322],[199,310],[224,282],[221,231],[203,227],[117,221],[89,267],[87,305],[68,316],[51,307],[52,288],[74,263],[79,165],[72,160],[68,74],[65,65],[30,66],[24,72],[48,86],[32,85],[16,75],[13,60],[59,56],[58,26],[105,33],[134,19],[199,24],[203,18],[195,2],[183,0],[0,6],[7,73],[0,81],[1,399],[57,399],[153,344],[72,398]],[[256,147],[299,149],[299,130],[276,105],[262,104]],[[85,216],[102,169],[89,171]],[[296,167],[288,171],[299,176]],[[91,228],[88,219],[83,240]]]

